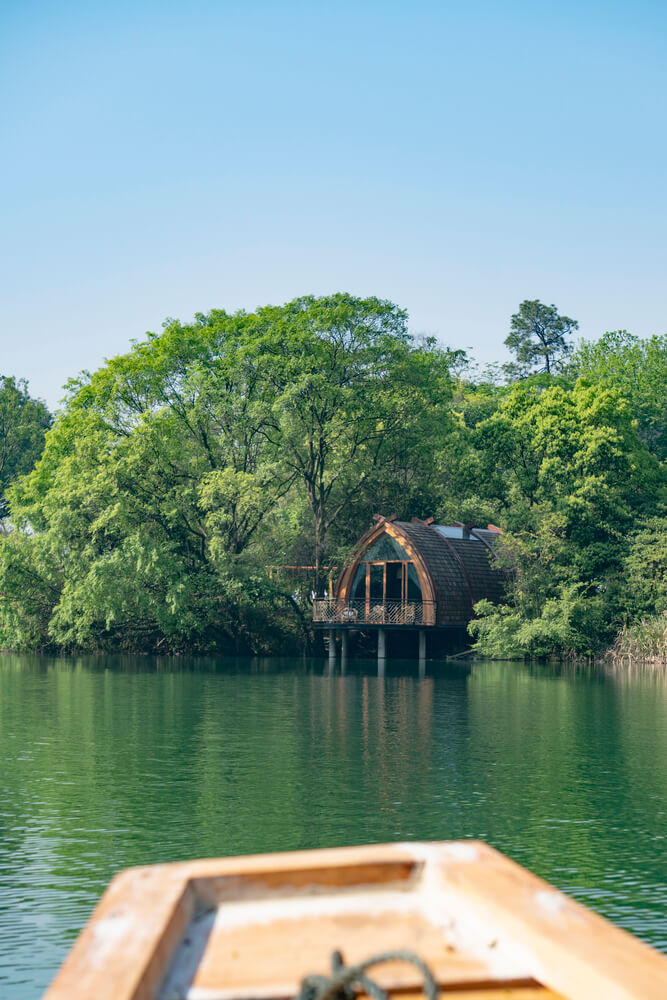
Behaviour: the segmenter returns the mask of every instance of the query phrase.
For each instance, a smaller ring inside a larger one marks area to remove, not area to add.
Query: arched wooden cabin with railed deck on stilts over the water
[[[462,648],[473,606],[482,598],[497,602],[503,577],[494,566],[500,529],[489,525],[439,525],[433,519],[396,521],[377,518],[344,567],[332,597],[316,600],[313,620],[330,628],[335,654],[340,630],[378,631],[378,656],[386,655],[386,630],[417,631],[420,656],[426,633],[437,634],[443,648]]]

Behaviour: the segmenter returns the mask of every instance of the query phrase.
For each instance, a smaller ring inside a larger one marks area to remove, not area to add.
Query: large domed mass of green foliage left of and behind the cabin
[[[0,641],[301,641],[309,609],[264,567],[311,563],[314,550],[322,585],[332,532],[338,553],[358,537],[350,509],[370,517],[380,483],[405,499],[432,466],[432,414],[446,431],[453,357],[413,342],[391,303],[336,295],[169,321],[84,373],[10,493],[18,530],[0,547],[11,592]]]

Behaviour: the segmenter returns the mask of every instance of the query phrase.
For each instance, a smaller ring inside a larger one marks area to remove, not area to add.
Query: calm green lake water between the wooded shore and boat
[[[667,951],[665,674],[0,656],[0,997],[111,875],[482,837]]]

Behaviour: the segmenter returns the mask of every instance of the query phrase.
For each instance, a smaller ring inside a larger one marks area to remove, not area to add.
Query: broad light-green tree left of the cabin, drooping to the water
[[[273,417],[244,332],[243,315],[169,322],[71,383],[41,461],[10,494],[21,539],[0,547],[13,601],[0,606],[0,644],[3,633],[35,644],[34,629],[17,631],[24,592],[40,609],[32,622],[50,602],[42,645],[279,644],[286,616],[274,611],[286,599],[241,564],[285,488],[270,474],[262,420]]]

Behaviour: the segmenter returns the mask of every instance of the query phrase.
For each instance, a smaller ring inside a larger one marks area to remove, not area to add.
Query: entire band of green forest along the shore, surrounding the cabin
[[[390,302],[305,297],[168,320],[54,418],[0,378],[0,646],[313,648],[310,584],[267,567],[322,591],[382,512],[503,528],[481,654],[664,655],[667,336],[575,346],[539,301],[508,328],[480,370]]]

